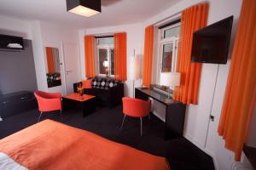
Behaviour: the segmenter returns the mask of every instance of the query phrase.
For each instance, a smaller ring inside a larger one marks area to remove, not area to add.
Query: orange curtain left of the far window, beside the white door
[[[95,64],[94,64],[94,36],[84,37],[84,57],[85,57],[85,77],[95,77]]]

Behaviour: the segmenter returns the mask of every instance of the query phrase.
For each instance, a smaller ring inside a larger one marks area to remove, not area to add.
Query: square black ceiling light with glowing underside
[[[67,11],[86,17],[102,12],[101,0],[66,0]]]

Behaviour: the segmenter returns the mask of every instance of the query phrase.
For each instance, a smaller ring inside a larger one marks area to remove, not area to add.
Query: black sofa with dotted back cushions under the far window
[[[78,92],[77,87],[82,82],[73,84],[73,91]],[[84,94],[95,95],[100,105],[113,107],[122,103],[124,97],[124,83],[112,78],[95,77],[91,81],[91,88],[84,88]]]

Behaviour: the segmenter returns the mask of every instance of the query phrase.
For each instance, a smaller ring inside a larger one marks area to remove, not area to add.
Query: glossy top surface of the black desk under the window
[[[144,94],[147,94],[149,97],[158,100],[159,102],[165,104],[165,105],[171,105],[173,103],[179,103],[172,99],[172,97],[169,99],[166,94],[161,94],[160,92],[157,92],[156,90],[152,88],[136,88],[137,90],[143,92]]]

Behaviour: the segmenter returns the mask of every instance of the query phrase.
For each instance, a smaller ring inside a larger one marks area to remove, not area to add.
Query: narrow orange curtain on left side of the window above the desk
[[[154,45],[154,26],[145,28],[144,57],[143,57],[143,86],[150,87],[152,74],[152,59]]]

